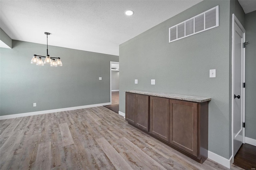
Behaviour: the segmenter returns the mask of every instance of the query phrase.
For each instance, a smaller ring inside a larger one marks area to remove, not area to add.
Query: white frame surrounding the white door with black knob
[[[232,121],[231,121],[231,131],[232,131],[232,163],[234,163],[234,29],[235,29],[235,23],[238,25],[238,27],[243,32],[243,40],[245,42],[245,29],[240,23],[240,21],[236,18],[235,14],[232,14]],[[245,48],[242,48],[242,81],[245,82]],[[242,88],[242,121],[245,121],[245,88]],[[243,130],[243,143],[245,142],[245,128],[242,128]]]

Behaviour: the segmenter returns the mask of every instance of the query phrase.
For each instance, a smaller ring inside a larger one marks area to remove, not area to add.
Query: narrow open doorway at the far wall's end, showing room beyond
[[[110,105],[104,106],[119,112],[119,62],[110,61]]]

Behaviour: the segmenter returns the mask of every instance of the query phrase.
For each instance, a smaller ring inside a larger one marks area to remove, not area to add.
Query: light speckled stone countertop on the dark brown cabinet
[[[137,94],[142,94],[142,95],[149,95],[149,96],[165,97],[165,98],[169,98],[169,99],[193,101],[193,102],[198,102],[198,103],[203,103],[203,102],[211,100],[211,98],[208,98],[208,97],[174,95],[174,94],[170,94],[170,93],[159,93],[159,92],[142,91],[142,90],[128,90],[126,92],[137,93]]]

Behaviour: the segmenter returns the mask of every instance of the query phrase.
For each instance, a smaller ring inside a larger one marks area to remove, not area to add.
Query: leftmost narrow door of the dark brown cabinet
[[[125,93],[125,120],[133,123],[136,122],[136,98],[134,93]]]

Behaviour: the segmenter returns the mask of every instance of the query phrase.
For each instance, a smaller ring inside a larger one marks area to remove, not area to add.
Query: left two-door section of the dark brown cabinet
[[[126,93],[125,119],[143,130],[149,131],[149,96]]]

